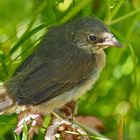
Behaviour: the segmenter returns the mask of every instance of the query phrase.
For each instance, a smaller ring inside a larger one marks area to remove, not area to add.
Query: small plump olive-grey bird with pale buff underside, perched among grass
[[[0,112],[47,115],[77,101],[99,79],[108,47],[123,45],[95,17],[51,27],[35,52],[0,86]]]

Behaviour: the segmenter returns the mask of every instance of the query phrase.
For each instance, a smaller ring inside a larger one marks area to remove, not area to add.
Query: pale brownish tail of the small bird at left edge
[[[13,104],[14,102],[8,95],[4,84],[0,85],[0,113],[11,107]]]

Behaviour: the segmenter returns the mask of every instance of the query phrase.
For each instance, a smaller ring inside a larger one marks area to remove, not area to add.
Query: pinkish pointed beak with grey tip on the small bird
[[[96,45],[99,46],[112,46],[112,47],[118,47],[118,48],[124,48],[124,46],[115,38],[115,37],[109,37],[106,38],[104,42],[98,43]]]

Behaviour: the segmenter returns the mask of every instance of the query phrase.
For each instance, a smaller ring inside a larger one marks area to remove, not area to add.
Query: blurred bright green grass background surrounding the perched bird
[[[35,50],[48,27],[79,16],[103,20],[126,48],[106,50],[106,67],[80,99],[78,115],[100,119],[102,134],[112,140],[139,140],[139,0],[0,0],[0,82]],[[0,116],[0,140],[14,139],[16,123],[16,114]]]

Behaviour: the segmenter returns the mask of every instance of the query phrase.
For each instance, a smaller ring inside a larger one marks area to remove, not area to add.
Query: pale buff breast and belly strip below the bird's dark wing
[[[92,69],[91,75],[86,80],[83,80],[80,84],[77,84],[73,88],[68,91],[60,94],[59,96],[52,98],[50,101],[42,103],[37,106],[33,106],[33,111],[39,111],[43,114],[49,114],[56,108],[63,107],[66,103],[79,99],[84,93],[89,91],[97,79],[99,78],[99,74],[105,66],[105,53],[104,51],[100,51],[96,55],[96,64]]]

